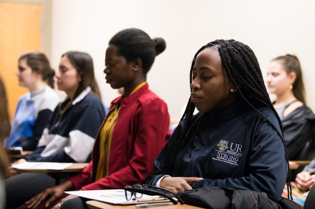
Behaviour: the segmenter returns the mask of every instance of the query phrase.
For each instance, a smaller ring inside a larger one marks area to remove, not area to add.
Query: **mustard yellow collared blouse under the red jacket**
[[[146,82],[139,84],[130,94],[138,91]],[[115,106],[115,109],[107,117],[102,129],[100,130],[100,161],[97,166],[95,181],[100,180],[101,178],[108,176],[108,156],[110,152],[112,133],[117,121],[118,113],[120,110],[120,102]]]

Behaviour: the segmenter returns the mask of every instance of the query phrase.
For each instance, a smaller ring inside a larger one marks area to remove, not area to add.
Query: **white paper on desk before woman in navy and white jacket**
[[[73,163],[59,163],[59,162],[23,162],[12,167],[17,169],[49,169],[49,170],[63,170],[72,166]]]

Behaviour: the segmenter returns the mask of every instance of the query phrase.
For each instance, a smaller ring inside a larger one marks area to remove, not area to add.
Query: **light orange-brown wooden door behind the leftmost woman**
[[[41,48],[41,5],[0,2],[0,76],[9,100],[13,120],[18,98],[28,91],[20,87],[15,72],[18,58]]]

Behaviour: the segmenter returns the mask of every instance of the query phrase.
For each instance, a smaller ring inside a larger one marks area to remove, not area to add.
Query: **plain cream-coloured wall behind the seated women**
[[[163,37],[166,50],[148,74],[150,88],[168,104],[171,119],[189,99],[192,58],[215,39],[235,39],[251,47],[266,75],[271,59],[295,54],[301,61],[308,105],[315,110],[314,1],[292,0],[52,0],[52,66],[69,50],[88,52],[107,105],[117,90],[105,83],[104,57],[110,38],[125,28]],[[274,98],[274,97],[272,97]]]

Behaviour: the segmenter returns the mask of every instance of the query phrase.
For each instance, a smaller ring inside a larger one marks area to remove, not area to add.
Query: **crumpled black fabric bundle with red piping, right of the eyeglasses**
[[[227,187],[206,186],[177,193],[185,204],[209,209],[301,209],[295,202],[282,198],[278,203],[266,193]]]

